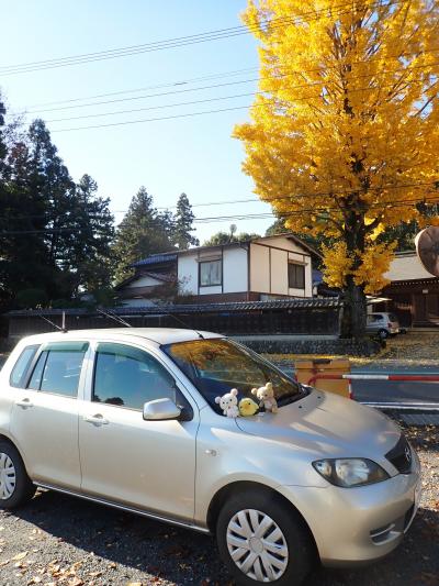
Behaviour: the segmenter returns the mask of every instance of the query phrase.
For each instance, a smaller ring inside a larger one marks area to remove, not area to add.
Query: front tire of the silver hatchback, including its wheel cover
[[[239,493],[228,499],[218,515],[216,540],[227,570],[243,586],[297,586],[316,559],[303,519],[268,490]]]

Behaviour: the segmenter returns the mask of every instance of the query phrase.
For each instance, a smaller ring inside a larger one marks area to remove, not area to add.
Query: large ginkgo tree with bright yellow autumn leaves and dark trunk
[[[260,58],[244,170],[288,229],[330,239],[325,280],[360,338],[393,256],[380,233],[439,199],[439,3],[249,0],[244,21]]]

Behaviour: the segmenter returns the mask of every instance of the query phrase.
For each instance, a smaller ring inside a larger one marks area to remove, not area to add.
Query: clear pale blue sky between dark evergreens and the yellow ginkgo
[[[2,2],[0,26],[0,67],[45,60],[90,52],[105,51],[206,31],[239,26],[245,0],[15,0]],[[257,47],[249,34],[209,43],[144,53],[116,59],[74,65],[20,75],[1,75],[0,89],[11,111],[33,110],[25,120],[71,118],[116,110],[150,108],[183,101],[251,92],[256,82],[189,91],[42,112],[46,102],[87,98],[100,93],[173,84],[213,74],[257,67]],[[240,81],[257,77],[257,71],[230,77],[149,89],[112,97],[134,98],[146,93],[191,89],[201,86]],[[101,98],[101,101],[112,99]],[[180,113],[249,106],[251,96],[200,104],[150,111],[121,113],[83,120],[48,122],[53,140],[70,174],[78,179],[90,174],[99,184],[100,195],[110,197],[112,210],[126,210],[132,196],[145,185],[156,206],[173,206],[180,192],[192,204],[248,199],[251,179],[241,173],[241,144],[230,137],[236,122],[246,120],[247,110],[205,114],[121,125],[108,129],[59,131],[89,124],[131,121]],[[87,100],[59,108],[88,103]],[[35,104],[37,107],[35,108]],[[50,108],[45,106],[45,108]],[[199,218],[269,212],[262,202],[195,207]],[[116,212],[116,221],[122,213]],[[233,221],[238,231],[263,233],[270,220]],[[217,230],[227,230],[232,221],[196,224],[200,240]]]

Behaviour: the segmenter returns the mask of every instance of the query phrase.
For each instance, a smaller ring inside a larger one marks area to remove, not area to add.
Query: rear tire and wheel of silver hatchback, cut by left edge
[[[35,490],[18,450],[0,441],[0,509],[20,507],[31,500]]]

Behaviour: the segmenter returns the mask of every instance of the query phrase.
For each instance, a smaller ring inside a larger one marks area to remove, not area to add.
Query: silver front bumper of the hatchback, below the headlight
[[[303,515],[326,566],[356,565],[387,555],[403,540],[420,500],[420,466],[359,488],[283,486]]]

